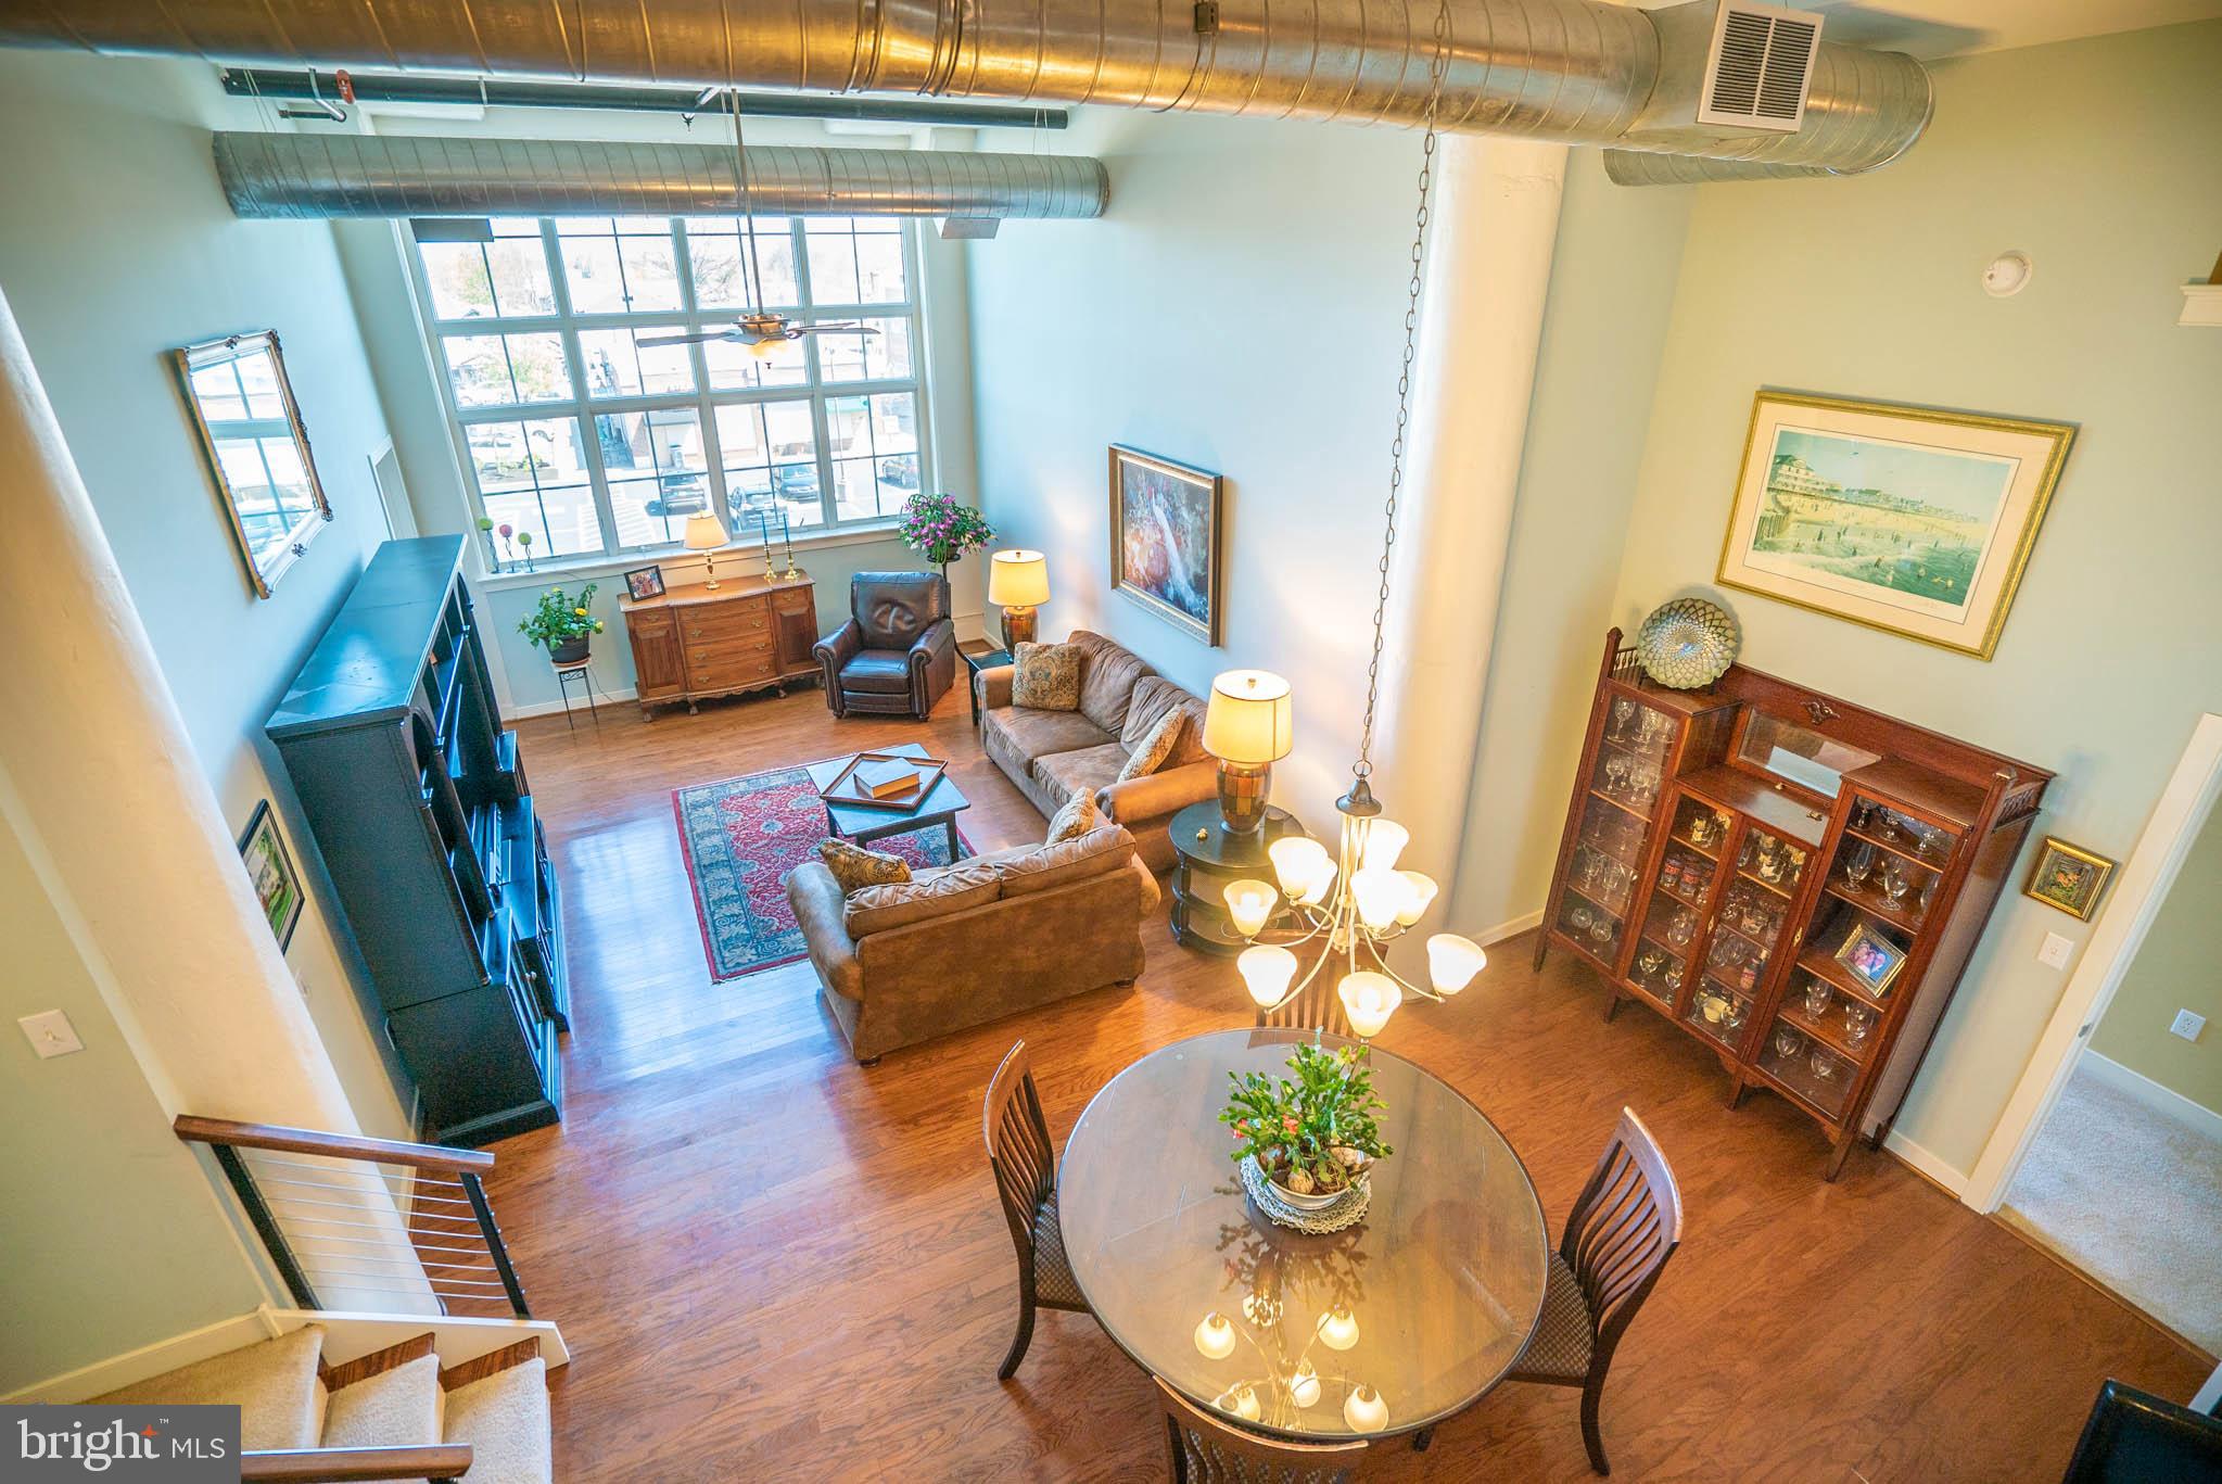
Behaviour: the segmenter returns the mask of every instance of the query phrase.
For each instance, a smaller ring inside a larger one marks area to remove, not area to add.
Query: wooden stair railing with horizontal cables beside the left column
[[[442,1313],[487,1317],[507,1311],[518,1320],[531,1317],[487,1202],[491,1153],[196,1115],[178,1117],[171,1131],[187,1144],[207,1144],[216,1155],[302,1308],[329,1308],[318,1297],[322,1280],[333,1289],[376,1291],[387,1284],[418,1295],[429,1286]],[[344,1160],[369,1177],[349,1180],[331,1164],[280,1155]],[[369,1235],[349,1235],[353,1231]],[[396,1246],[402,1240],[411,1249],[407,1257]],[[442,1475],[413,1468],[316,1477]]]

